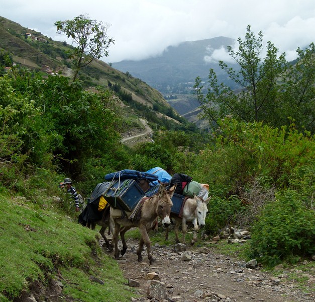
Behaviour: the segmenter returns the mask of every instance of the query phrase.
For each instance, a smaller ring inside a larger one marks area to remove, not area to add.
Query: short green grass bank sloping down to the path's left
[[[117,262],[98,246],[98,233],[71,217],[0,195],[0,300],[12,301],[34,281],[61,279],[62,294],[80,301],[130,301]],[[97,237],[96,237],[97,236]],[[95,276],[104,284],[89,280]]]

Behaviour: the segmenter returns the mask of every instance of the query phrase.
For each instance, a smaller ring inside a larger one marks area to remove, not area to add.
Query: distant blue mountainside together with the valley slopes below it
[[[195,79],[200,77],[206,82],[209,69],[213,68],[218,82],[236,88],[235,83],[219,66],[218,60],[211,59],[216,50],[233,43],[234,40],[227,37],[182,42],[177,46],[169,46],[160,56],[140,61],[124,60],[113,63],[113,66],[160,91],[179,114],[204,129],[208,123],[200,121],[198,114],[195,114],[200,111],[199,103],[193,95]],[[237,66],[233,67],[237,69]]]

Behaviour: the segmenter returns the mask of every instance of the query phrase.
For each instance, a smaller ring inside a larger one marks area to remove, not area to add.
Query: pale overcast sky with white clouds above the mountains
[[[288,60],[315,40],[315,0],[0,0],[0,16],[53,40],[65,40],[56,21],[81,14],[111,25],[106,62],[145,59],[183,41],[243,39],[247,25]]]

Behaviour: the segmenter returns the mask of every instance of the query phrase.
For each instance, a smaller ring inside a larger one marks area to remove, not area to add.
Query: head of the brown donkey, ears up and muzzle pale
[[[163,226],[167,228],[171,224],[170,214],[171,207],[173,205],[172,197],[175,192],[176,185],[172,186],[169,190],[166,190],[165,184],[160,185],[158,196],[158,204],[157,204],[157,215],[162,221]]]

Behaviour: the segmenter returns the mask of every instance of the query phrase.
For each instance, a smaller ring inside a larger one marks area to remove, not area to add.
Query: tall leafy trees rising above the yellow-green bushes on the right
[[[266,121],[270,125],[290,124],[288,117],[300,118],[308,111],[306,124],[313,123],[314,102],[314,45],[309,49],[297,50],[299,63],[290,66],[285,54],[277,57],[278,49],[267,42],[266,55],[262,59],[263,35],[256,37],[247,27],[245,40],[238,39],[238,50],[228,47],[231,58],[239,66],[238,71],[223,61],[219,64],[240,89],[218,84],[215,71],[210,69],[209,88],[204,97],[201,79],[196,78],[197,99],[204,116],[218,123],[218,118],[232,115],[239,121]],[[305,63],[304,63],[305,62]],[[306,105],[306,104],[308,104]],[[292,108],[293,104],[293,108]],[[293,110],[294,109],[294,110]],[[301,127],[300,127],[301,128]]]

